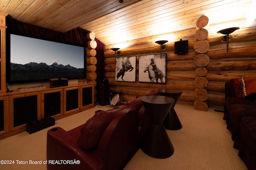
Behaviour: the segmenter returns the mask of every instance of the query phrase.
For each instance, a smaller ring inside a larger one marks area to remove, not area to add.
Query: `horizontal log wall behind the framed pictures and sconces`
[[[153,88],[171,88],[183,91],[179,102],[193,104],[196,99],[194,95],[196,89],[194,79],[197,77],[195,70],[198,68],[193,62],[197,55],[193,48],[196,43],[195,32],[196,28],[169,33],[177,35],[182,40],[188,40],[189,51],[186,55],[175,55],[175,41],[168,40],[166,49],[162,50],[162,53],[167,53],[166,84],[138,82],[138,56],[160,53],[160,45],[152,43],[152,39],[156,39],[157,36],[126,42],[129,47],[120,49],[121,53],[118,57],[137,56],[136,82],[115,81],[115,56],[114,51],[110,48],[118,47],[118,44],[106,45],[104,69],[105,76],[110,83],[110,91],[122,92],[122,100],[129,101],[136,98],[136,95],[145,95]],[[208,73],[205,78],[208,80],[206,102],[209,106],[224,106],[224,85],[230,79],[256,78],[256,28],[240,29],[232,33],[228,53],[226,52],[226,41],[222,41],[222,36],[222,34],[209,35],[207,40],[210,43],[210,49],[206,55],[210,57],[210,63],[206,66]]]

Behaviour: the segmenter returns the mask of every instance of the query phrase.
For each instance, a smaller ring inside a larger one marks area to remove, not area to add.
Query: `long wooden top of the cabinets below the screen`
[[[91,85],[95,86],[96,83],[94,83],[94,82],[84,83],[83,82],[83,83],[69,84],[68,86],[61,86],[61,87],[54,87],[54,88],[50,88],[50,86],[46,86],[46,88],[44,88],[44,89],[36,89],[36,90],[25,90],[25,91],[13,90],[12,92],[0,93],[0,97],[11,96],[11,95],[16,95],[16,94],[26,94],[26,93],[33,93],[33,92],[43,92],[43,91],[48,91],[48,90],[72,88],[72,87],[79,87],[79,86],[91,86]]]

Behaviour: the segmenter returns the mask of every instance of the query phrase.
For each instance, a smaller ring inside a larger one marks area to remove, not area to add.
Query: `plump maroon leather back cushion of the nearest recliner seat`
[[[81,135],[77,141],[78,145],[85,150],[96,148],[102,134],[120,111],[121,109],[109,109],[99,112],[88,119],[81,129]]]

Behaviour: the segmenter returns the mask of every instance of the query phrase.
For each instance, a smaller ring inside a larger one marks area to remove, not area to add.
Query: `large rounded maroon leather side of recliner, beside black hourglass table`
[[[97,155],[107,169],[121,169],[139,148],[138,115],[134,109],[122,110],[103,133]]]

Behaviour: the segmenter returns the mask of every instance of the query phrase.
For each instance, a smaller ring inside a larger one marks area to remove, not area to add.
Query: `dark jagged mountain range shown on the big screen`
[[[69,64],[64,66],[54,62],[52,65],[46,63],[10,63],[11,81],[16,80],[47,80],[51,78],[82,78],[84,68],[75,68]]]

